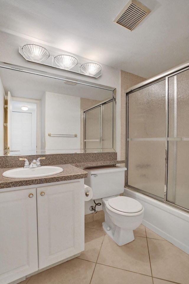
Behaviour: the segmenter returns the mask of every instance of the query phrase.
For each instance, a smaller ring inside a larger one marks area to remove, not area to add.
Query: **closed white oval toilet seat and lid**
[[[122,216],[138,216],[144,212],[142,204],[130,197],[117,196],[106,199],[106,207]]]

